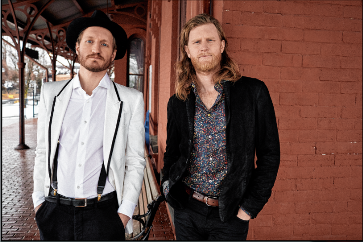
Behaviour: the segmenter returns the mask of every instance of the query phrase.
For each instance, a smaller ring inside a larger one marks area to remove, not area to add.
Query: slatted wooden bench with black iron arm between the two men
[[[139,203],[132,216],[134,232],[126,234],[127,241],[147,241],[154,220],[156,211],[163,201],[160,195],[159,185],[157,184],[155,173],[153,172],[151,161],[145,150],[146,167],[144,170],[144,182]]]

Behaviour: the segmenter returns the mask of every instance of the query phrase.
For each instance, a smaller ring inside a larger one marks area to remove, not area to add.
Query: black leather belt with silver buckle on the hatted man
[[[53,189],[51,189],[53,190]],[[50,191],[52,194],[53,191]],[[110,192],[104,196],[101,196],[100,201],[97,201],[96,198],[86,199],[86,198],[68,198],[62,195],[59,195],[59,203],[63,205],[69,205],[73,207],[86,207],[87,205],[94,205],[96,203],[104,202],[107,200],[110,200],[114,198],[116,195],[116,191]],[[57,196],[48,196],[45,197],[45,201],[51,202],[51,203],[58,203],[58,197]]]

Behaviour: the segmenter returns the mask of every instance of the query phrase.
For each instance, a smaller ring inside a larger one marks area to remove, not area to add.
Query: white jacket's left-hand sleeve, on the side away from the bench
[[[36,205],[37,201],[44,197],[44,182],[45,175],[47,174],[46,164],[46,144],[45,144],[45,124],[46,124],[46,105],[44,100],[44,87],[46,83],[41,86],[39,110],[38,110],[38,124],[37,124],[37,145],[36,145],[36,158],[34,164],[34,193],[33,202]],[[42,195],[41,195],[42,194]],[[39,204],[37,204],[39,205]],[[36,206],[37,206],[36,205]]]

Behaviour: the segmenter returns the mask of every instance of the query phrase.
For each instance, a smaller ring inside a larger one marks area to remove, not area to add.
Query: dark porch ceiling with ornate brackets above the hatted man
[[[22,39],[37,11],[48,0],[11,0],[11,2],[20,30],[20,39]],[[111,18],[112,15],[123,14],[127,23],[146,23],[145,9],[147,9],[145,0],[53,0],[36,19],[27,42],[52,52],[48,22],[54,46],[56,46],[56,55],[72,59],[73,53],[67,47],[65,33],[73,19],[90,17],[95,10],[103,10],[108,12]],[[1,35],[13,35],[16,38],[15,24],[8,0],[1,0],[1,20]]]

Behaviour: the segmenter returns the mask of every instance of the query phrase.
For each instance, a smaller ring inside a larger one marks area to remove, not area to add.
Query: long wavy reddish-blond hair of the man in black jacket
[[[192,29],[210,23],[216,26],[219,39],[225,41],[224,50],[220,60],[220,69],[213,76],[214,82],[220,84],[222,80],[237,81],[241,78],[240,70],[237,63],[229,58],[227,54],[228,42],[222,26],[220,25],[218,20],[211,15],[205,13],[199,14],[194,18],[190,19],[184,25],[180,35],[180,50],[182,52],[181,60],[177,62],[174,67],[177,77],[175,82],[176,95],[182,101],[185,101],[187,99],[187,96],[190,93],[190,84],[192,82],[198,87],[198,79],[195,73],[195,69],[184,49],[184,46],[188,45],[189,33]]]

